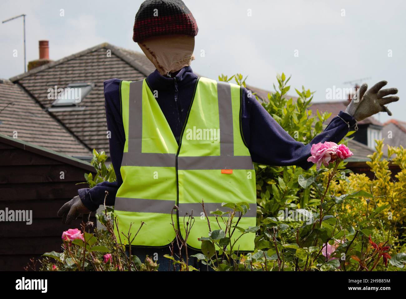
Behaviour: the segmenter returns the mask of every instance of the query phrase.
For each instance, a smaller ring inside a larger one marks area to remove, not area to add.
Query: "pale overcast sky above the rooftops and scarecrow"
[[[27,62],[38,58],[41,39],[50,41],[53,60],[105,41],[141,52],[132,41],[141,2],[2,0],[0,19],[27,15]],[[326,101],[328,88],[353,87],[346,81],[370,78],[364,81],[371,87],[387,80],[387,87],[399,89],[400,100],[389,105],[393,118],[406,121],[405,1],[184,2],[199,26],[195,72],[213,79],[240,72],[248,75],[248,84],[268,90],[275,75],[285,72],[292,74],[292,87],[316,91],[315,101]],[[22,18],[0,24],[0,78],[24,72],[22,24]],[[383,113],[377,118],[389,119]]]

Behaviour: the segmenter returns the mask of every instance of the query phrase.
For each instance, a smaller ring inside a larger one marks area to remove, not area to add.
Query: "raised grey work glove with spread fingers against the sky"
[[[356,121],[363,120],[378,112],[387,112],[391,116],[392,112],[384,105],[398,101],[399,97],[389,96],[391,94],[397,94],[397,88],[381,90],[387,83],[387,81],[380,81],[368,89],[368,91],[367,84],[364,83],[361,85],[345,112],[354,117]]]

